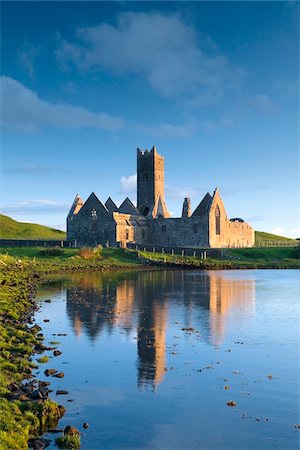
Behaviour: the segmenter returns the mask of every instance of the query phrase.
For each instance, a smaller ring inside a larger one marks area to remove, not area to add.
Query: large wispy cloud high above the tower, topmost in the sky
[[[244,74],[179,14],[126,12],[115,26],[78,29],[77,39],[59,37],[56,57],[63,70],[75,65],[83,73],[141,75],[166,97],[219,100]]]

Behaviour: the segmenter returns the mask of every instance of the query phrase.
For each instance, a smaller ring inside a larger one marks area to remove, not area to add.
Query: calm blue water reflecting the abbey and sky
[[[299,448],[299,285],[296,270],[52,277],[36,320],[63,353],[38,376],[65,373],[59,425],[82,449]]]

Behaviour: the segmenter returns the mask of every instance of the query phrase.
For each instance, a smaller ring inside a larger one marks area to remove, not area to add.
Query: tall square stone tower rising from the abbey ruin
[[[137,149],[137,208],[147,216],[158,197],[164,203],[165,180],[164,158],[155,147],[149,150]]]

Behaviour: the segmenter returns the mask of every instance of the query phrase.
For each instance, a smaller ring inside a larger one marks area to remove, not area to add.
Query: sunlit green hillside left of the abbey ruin
[[[66,233],[35,223],[17,222],[0,214],[0,238],[2,239],[66,239]]]

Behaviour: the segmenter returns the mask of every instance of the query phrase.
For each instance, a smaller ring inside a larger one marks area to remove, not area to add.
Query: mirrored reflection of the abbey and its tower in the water
[[[176,302],[182,314],[178,334],[192,327],[200,332],[199,345],[219,345],[230,312],[245,317],[255,295],[254,280],[230,279],[221,272],[76,275],[73,286],[67,288],[67,313],[75,333],[95,340],[114,327],[128,334],[136,331],[138,385],[152,388],[163,380],[167,367],[169,304]]]

